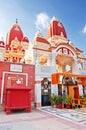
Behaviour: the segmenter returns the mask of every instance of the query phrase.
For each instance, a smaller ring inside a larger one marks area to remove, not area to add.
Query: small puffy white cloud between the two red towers
[[[50,18],[46,13],[39,13],[36,16],[35,25],[37,29],[46,29],[49,25]]]

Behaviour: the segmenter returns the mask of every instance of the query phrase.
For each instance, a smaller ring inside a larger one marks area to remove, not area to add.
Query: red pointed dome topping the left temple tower
[[[13,41],[15,37],[17,37],[19,42],[21,42],[23,38],[23,32],[17,22],[12,26],[7,34],[6,49],[10,49],[11,41]]]

